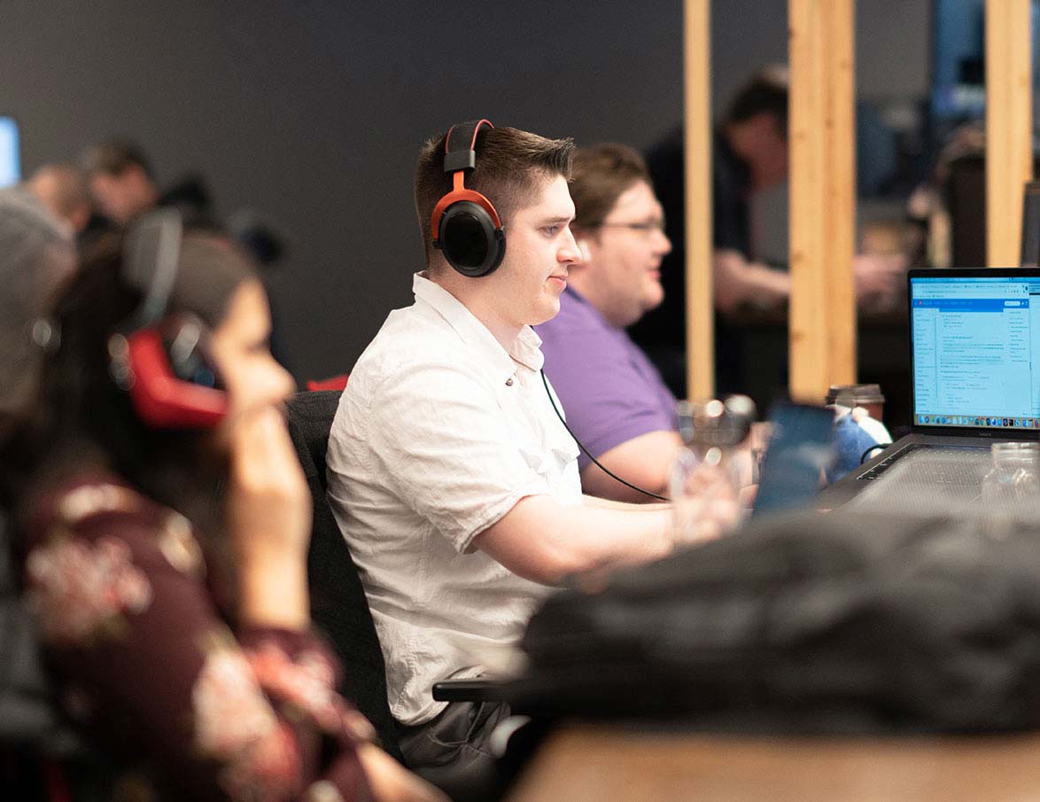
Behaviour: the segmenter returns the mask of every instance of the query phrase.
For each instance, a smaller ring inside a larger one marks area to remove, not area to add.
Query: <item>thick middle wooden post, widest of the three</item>
[[[856,379],[853,0],[789,0],[790,394]]]

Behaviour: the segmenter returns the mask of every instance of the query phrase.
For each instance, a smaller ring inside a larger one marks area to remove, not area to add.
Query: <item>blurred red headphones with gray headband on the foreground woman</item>
[[[156,429],[208,429],[228,396],[209,356],[209,329],[191,314],[166,313],[177,279],[183,223],[173,209],[150,212],[127,235],[123,275],[145,297],[126,333],[108,340],[109,368],[134,412]]]

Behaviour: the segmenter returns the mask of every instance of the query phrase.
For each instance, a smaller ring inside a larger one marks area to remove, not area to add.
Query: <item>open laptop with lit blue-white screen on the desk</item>
[[[908,274],[911,434],[818,496],[932,513],[981,494],[995,440],[1040,439],[1040,268]]]

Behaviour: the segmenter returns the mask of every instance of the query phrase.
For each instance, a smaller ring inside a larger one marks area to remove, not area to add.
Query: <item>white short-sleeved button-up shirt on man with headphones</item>
[[[390,709],[421,724],[433,683],[476,676],[515,644],[549,589],[473,538],[521,498],[581,502],[577,445],[549,402],[541,340],[506,352],[447,290],[416,275],[350,372],[329,439],[329,500],[361,572]],[[558,400],[557,400],[558,405]],[[539,533],[530,533],[537,538]]]

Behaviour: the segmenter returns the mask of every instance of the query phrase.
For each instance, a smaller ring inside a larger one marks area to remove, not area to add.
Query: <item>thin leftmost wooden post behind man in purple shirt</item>
[[[683,0],[686,395],[714,395],[711,284],[710,0]]]

